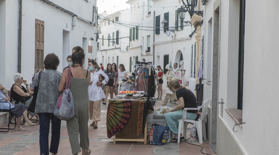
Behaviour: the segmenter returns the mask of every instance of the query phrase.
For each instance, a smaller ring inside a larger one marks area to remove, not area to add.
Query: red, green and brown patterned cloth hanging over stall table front
[[[109,100],[107,110],[107,136],[134,138],[143,131],[146,100]]]

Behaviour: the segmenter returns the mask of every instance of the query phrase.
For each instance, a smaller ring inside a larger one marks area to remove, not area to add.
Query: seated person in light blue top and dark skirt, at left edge
[[[20,120],[21,120],[21,115],[23,115],[24,119],[25,119],[25,126],[32,126],[32,125],[36,125],[35,123],[32,123],[28,117],[27,117],[27,106],[23,105],[23,104],[11,104],[10,98],[6,92],[5,87],[3,87],[3,85],[0,83],[0,109],[10,109],[11,113],[13,114],[13,116],[15,116],[16,118],[16,127],[15,130],[16,131],[26,131],[25,128],[22,128],[20,126]]]

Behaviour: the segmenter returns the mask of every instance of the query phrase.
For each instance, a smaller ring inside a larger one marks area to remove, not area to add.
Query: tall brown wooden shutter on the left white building
[[[45,22],[35,20],[35,74],[44,70],[44,30]]]

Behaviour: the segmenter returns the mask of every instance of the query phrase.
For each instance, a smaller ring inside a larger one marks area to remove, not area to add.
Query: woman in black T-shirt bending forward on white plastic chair
[[[170,130],[174,133],[174,139],[170,142],[177,142],[178,138],[178,121],[182,119],[183,109],[184,108],[198,108],[196,96],[191,92],[191,90],[181,86],[179,81],[176,79],[170,80],[168,86],[170,90],[176,93],[177,100],[179,105],[173,108],[170,111],[165,112],[166,123],[169,126]],[[187,110],[186,119],[195,120],[197,118],[198,110]],[[180,137],[180,140],[184,137]]]

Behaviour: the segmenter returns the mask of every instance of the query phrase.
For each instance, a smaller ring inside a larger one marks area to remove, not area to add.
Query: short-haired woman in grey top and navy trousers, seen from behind
[[[62,73],[57,71],[59,58],[56,54],[51,53],[45,56],[45,70],[39,83],[39,73],[35,75],[34,82],[30,86],[33,91],[35,86],[39,85],[35,113],[38,113],[40,118],[40,154],[45,155],[51,152],[57,155],[61,120],[53,115],[54,107],[60,95],[58,86],[61,80]],[[49,149],[49,126],[51,120],[51,143]]]

